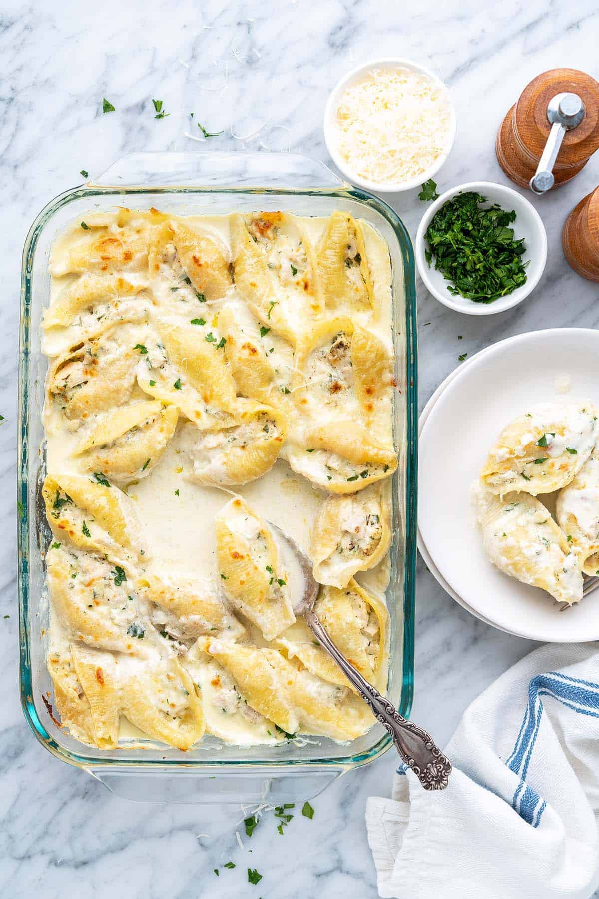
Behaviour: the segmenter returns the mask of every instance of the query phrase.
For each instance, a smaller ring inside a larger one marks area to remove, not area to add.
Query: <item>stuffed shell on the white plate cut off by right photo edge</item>
[[[599,448],[595,446],[555,504],[559,527],[567,535],[585,574],[599,570]]]

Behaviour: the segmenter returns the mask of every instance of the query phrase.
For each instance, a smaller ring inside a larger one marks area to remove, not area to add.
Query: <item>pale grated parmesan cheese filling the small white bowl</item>
[[[373,69],[350,85],[337,107],[340,155],[372,182],[417,178],[448,148],[449,96],[444,85],[408,68]]]

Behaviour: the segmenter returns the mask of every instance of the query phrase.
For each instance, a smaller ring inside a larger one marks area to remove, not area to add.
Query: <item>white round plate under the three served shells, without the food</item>
[[[483,619],[518,636],[584,643],[599,637],[597,597],[573,609],[502,574],[484,553],[470,485],[498,432],[530,405],[560,396],[599,402],[599,332],[554,328],[519,334],[454,374],[420,436],[418,526],[438,573]],[[556,377],[567,375],[566,396]]]

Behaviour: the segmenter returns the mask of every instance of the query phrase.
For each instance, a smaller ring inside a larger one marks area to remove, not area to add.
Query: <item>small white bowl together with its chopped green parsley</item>
[[[435,200],[418,226],[416,262],[425,286],[471,316],[517,306],[538,284],[546,260],[539,213],[502,184],[460,184]]]

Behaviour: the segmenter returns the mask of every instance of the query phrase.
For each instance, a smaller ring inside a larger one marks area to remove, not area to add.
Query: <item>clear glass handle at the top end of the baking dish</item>
[[[331,190],[348,186],[320,159],[304,153],[129,153],[88,187],[179,187]]]

